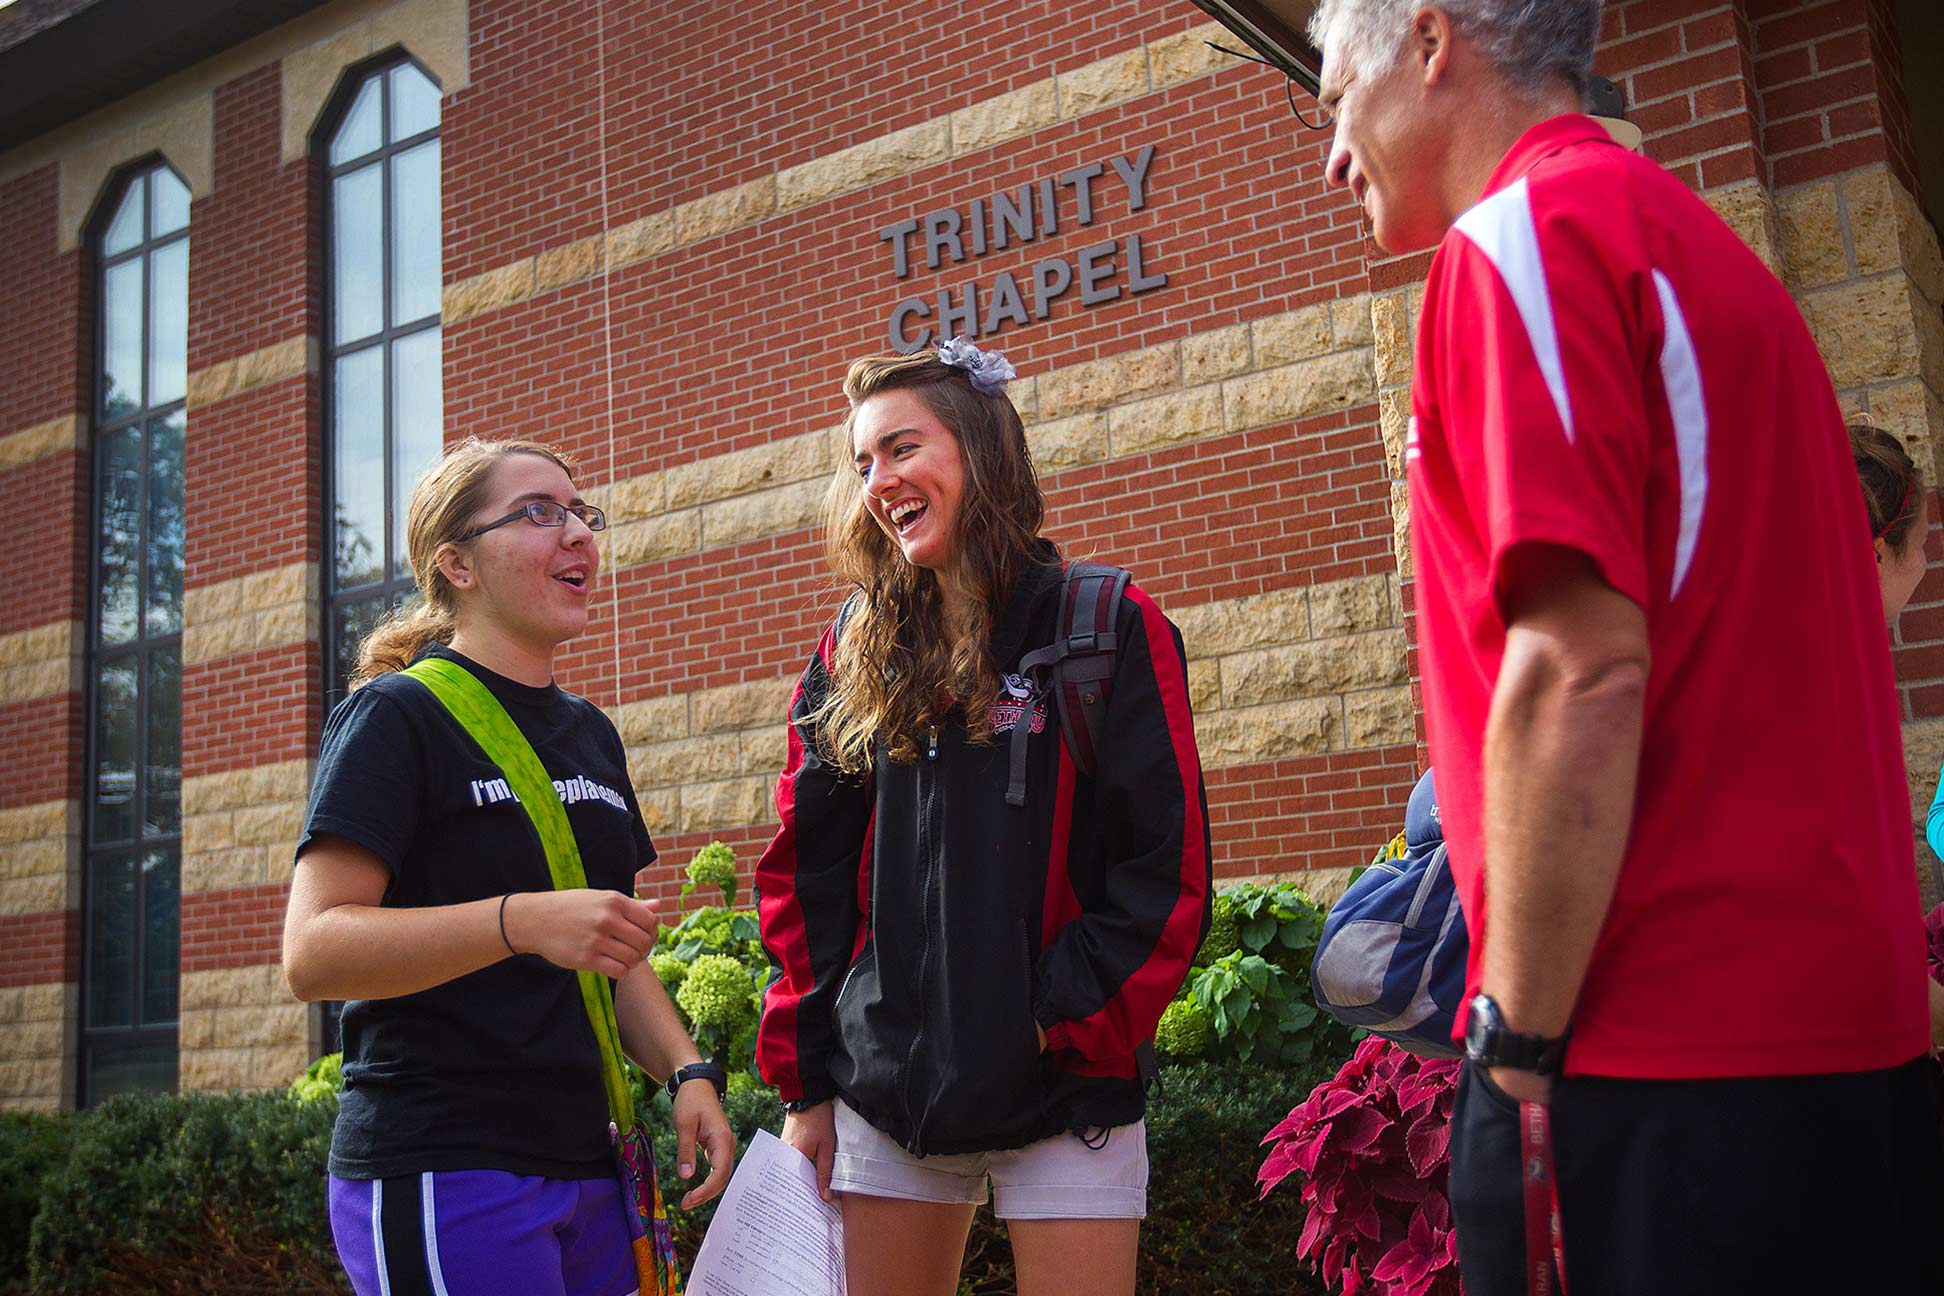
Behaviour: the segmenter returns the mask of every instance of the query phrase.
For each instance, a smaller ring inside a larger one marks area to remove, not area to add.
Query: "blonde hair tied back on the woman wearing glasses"
[[[358,647],[358,666],[350,686],[360,688],[381,674],[404,670],[426,645],[451,643],[459,604],[451,581],[437,567],[439,550],[459,544],[455,536],[472,527],[486,507],[492,470],[502,459],[538,455],[560,464],[573,480],[573,460],[540,441],[480,441],[467,437],[453,445],[412,488],[404,542],[412,556],[418,593],[399,612],[389,612]]]

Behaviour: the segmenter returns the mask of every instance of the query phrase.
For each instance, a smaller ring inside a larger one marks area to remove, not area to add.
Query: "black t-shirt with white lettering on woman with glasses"
[[[558,686],[531,688],[445,647],[505,707],[554,777],[589,886],[634,892],[655,859],[612,721]],[[391,869],[385,907],[552,890],[527,812],[418,680],[379,676],[325,725],[301,853],[348,837]],[[517,900],[513,902],[519,904]],[[579,985],[538,954],[445,985],[344,1005],[344,1098],[330,1174],[507,1170],[612,1174],[608,1106]]]

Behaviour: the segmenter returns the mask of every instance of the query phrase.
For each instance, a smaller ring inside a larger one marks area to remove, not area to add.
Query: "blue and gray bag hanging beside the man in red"
[[[1316,1006],[1411,1053],[1458,1057],[1452,1022],[1470,938],[1444,857],[1431,771],[1404,812],[1404,853],[1351,882],[1324,919],[1310,962]]]

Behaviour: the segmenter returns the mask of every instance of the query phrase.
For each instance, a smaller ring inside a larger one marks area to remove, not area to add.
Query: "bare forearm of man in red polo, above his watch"
[[[1573,1016],[1627,849],[1645,686],[1645,663],[1507,639],[1485,727],[1481,983],[1514,1032],[1557,1036]]]

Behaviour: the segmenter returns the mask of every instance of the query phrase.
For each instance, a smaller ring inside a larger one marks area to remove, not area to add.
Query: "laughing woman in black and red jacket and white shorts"
[[[851,1296],[949,1296],[988,1181],[1023,1296],[1133,1292],[1141,1059],[1207,927],[1174,626],[1131,585],[1112,622],[1091,604],[1085,767],[1028,661],[1077,585],[1011,377],[960,340],[851,365],[830,560],[857,593],[791,699],[756,867],[758,1059],[840,1195]]]

